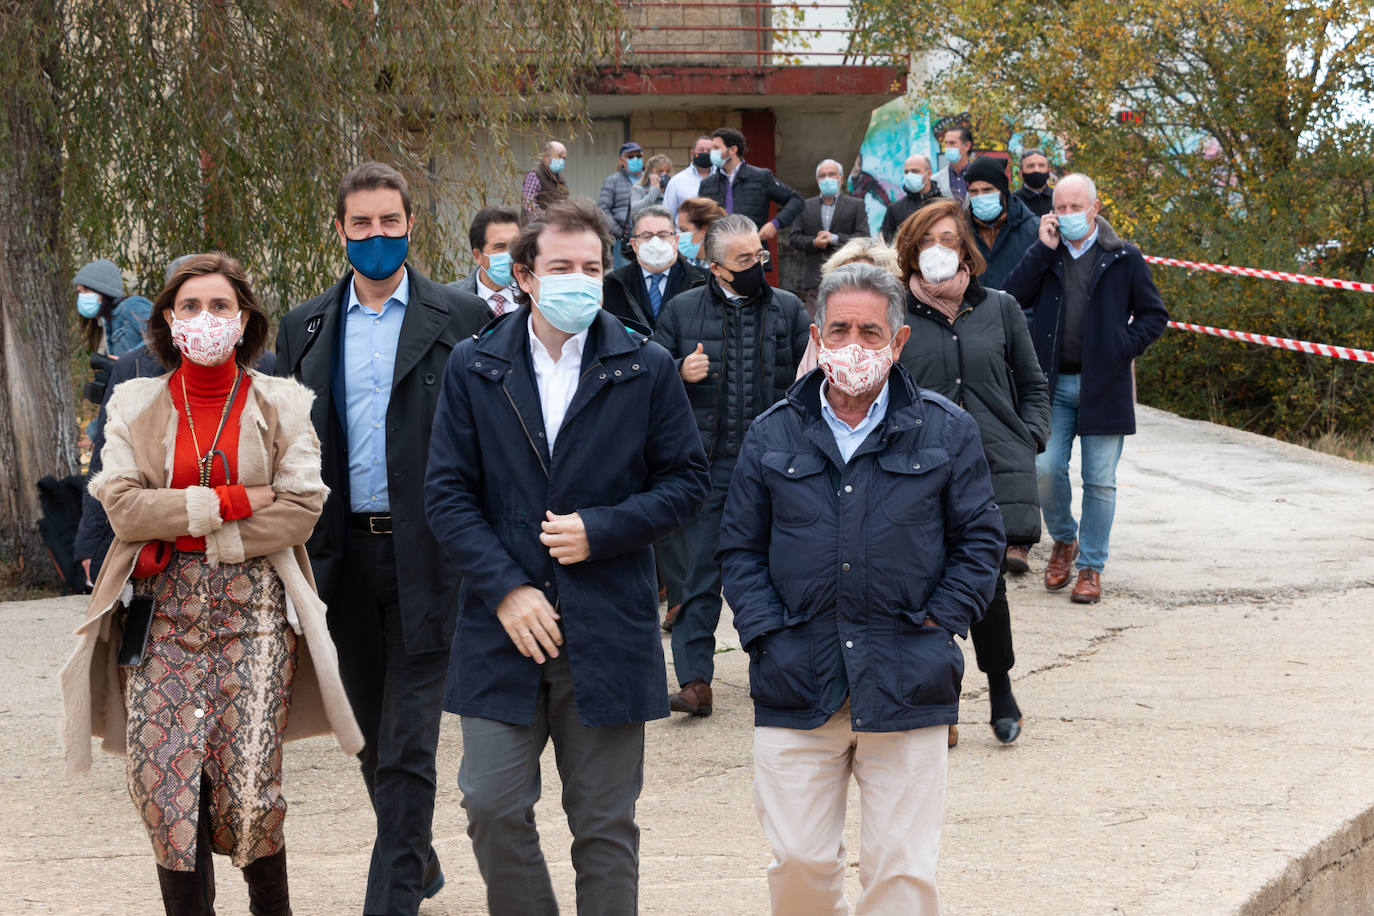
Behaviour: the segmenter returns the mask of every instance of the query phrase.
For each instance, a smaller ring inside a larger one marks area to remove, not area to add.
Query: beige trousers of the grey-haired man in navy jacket
[[[820,728],[754,729],[754,810],[772,843],[768,894],[786,916],[849,913],[845,797],[859,783],[857,912],[934,916],[947,725],[856,732],[849,703]]]

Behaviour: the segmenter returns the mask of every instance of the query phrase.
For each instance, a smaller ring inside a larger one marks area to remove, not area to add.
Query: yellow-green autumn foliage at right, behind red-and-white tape
[[[1369,0],[857,0],[857,51],[929,63],[936,107],[1052,140],[1147,254],[1374,277]],[[1121,121],[1121,113],[1135,117]],[[1374,346],[1374,297],[1154,269],[1173,317]],[[1374,433],[1374,368],[1168,331],[1140,397],[1265,434]]]

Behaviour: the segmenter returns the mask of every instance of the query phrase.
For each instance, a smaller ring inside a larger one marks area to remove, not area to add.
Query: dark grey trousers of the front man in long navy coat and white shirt
[[[644,724],[588,728],[577,720],[566,650],[544,663],[534,721],[510,725],[464,715],[458,787],[492,916],[558,912],[539,847],[539,757],[554,739],[563,812],[573,834],[578,916],[639,909],[639,827]]]

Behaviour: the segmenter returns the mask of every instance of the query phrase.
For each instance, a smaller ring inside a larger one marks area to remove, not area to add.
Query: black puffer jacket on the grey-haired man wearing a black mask
[[[786,397],[809,335],[811,319],[801,299],[768,286],[753,299],[734,304],[712,277],[664,305],[654,342],[679,367],[698,343],[710,360],[706,378],[687,383],[708,459],[739,455],[754,417]]]

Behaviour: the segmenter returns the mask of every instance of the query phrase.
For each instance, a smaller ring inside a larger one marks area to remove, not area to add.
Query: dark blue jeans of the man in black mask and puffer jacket
[[[716,625],[721,606],[716,548],[720,547],[720,518],[734,472],[734,455],[710,463],[710,496],[682,531],[687,544],[687,577],[683,608],[673,619],[673,670],[683,687],[697,680],[710,684],[716,673]]]

